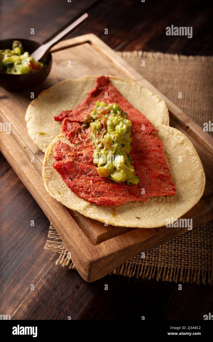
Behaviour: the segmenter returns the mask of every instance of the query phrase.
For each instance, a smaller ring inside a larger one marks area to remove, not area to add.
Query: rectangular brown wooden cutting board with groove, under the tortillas
[[[67,78],[111,74],[137,80],[158,93],[170,111],[170,126],[189,137],[203,163],[205,192],[199,203],[183,216],[193,219],[193,229],[213,219],[213,139],[95,35],[62,41],[52,49],[52,55],[51,73],[41,86],[19,93],[0,88],[0,122],[11,123],[10,134],[0,132],[0,149],[56,228],[79,274],[91,282],[136,254],[188,231],[187,228],[105,227],[104,223],[86,218],[53,199],[43,185],[44,154],[30,139],[24,120],[26,108],[32,100],[31,92],[36,97],[42,90]],[[67,66],[68,60],[71,67]]]

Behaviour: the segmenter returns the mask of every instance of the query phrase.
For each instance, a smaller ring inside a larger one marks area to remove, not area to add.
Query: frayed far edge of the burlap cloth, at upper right
[[[156,60],[166,60],[166,61],[174,61],[174,62],[201,62],[201,63],[212,63],[213,56],[183,56],[178,54],[170,54],[170,53],[162,53],[162,52],[147,52],[147,51],[123,51],[117,52],[119,56],[122,58],[149,58]]]

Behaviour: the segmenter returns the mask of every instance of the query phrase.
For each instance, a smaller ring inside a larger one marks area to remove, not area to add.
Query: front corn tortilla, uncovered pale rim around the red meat
[[[66,207],[84,216],[115,226],[154,228],[164,226],[166,220],[178,219],[201,198],[205,188],[205,174],[201,160],[190,140],[175,128],[156,125],[163,143],[171,174],[176,186],[175,196],[161,196],[148,202],[129,202],[118,207],[97,206],[76,196],[54,169],[53,148],[58,141],[67,143],[63,133],[48,146],[43,163],[43,180],[49,194]],[[180,158],[182,162],[179,162]]]

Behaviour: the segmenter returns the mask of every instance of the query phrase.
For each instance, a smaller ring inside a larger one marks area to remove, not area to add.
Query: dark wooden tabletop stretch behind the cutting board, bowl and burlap
[[[2,0],[1,39],[32,38],[46,42],[76,16],[89,18],[68,38],[94,33],[110,48],[119,51],[161,51],[183,55],[212,55],[211,1],[141,0]],[[17,17],[21,20],[17,23]],[[54,25],[53,25],[54,23]],[[192,26],[193,39],[166,36],[167,26]],[[108,35],[104,30],[108,28]]]

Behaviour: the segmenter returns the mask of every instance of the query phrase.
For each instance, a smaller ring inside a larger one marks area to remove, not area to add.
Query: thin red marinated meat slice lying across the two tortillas
[[[108,98],[104,98],[105,92],[108,93]],[[135,175],[139,178],[138,184],[117,184],[100,177],[97,167],[92,163],[94,148],[90,140],[91,130],[84,130],[82,122],[97,101],[117,103],[132,121],[130,155]],[[141,129],[142,124],[145,126],[144,130]],[[78,146],[70,147],[59,142],[54,148],[57,162],[53,166],[77,196],[99,205],[117,206],[131,201],[146,201],[147,197],[175,195],[176,188],[156,129],[112,86],[108,77],[102,76],[96,80],[95,88],[72,111],[72,117],[63,120],[62,132],[71,143]]]

